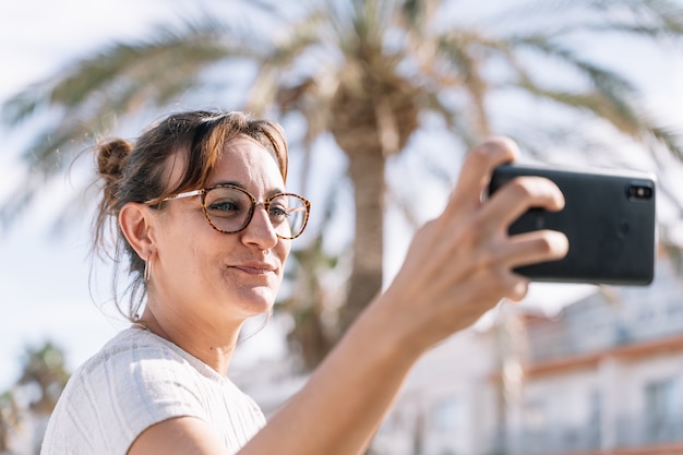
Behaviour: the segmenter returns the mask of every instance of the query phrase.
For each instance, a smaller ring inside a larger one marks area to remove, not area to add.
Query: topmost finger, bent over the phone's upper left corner
[[[508,137],[493,137],[477,145],[465,158],[448,205],[458,206],[465,203],[478,206],[491,181],[493,169],[504,163],[514,161],[518,155],[517,144]]]

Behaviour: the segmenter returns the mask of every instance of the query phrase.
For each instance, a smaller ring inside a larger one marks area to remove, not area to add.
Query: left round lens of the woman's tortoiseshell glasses
[[[251,199],[235,188],[214,188],[204,199],[206,215],[224,232],[236,232],[249,221]]]

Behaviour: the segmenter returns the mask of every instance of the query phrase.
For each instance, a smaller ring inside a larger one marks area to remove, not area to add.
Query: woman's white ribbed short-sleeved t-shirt
[[[122,331],[69,380],[41,455],[124,455],[148,427],[172,417],[209,424],[229,454],[264,424],[259,406],[227,378],[149,331]]]

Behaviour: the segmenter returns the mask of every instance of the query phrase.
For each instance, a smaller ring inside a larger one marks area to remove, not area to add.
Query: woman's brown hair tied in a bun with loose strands
[[[287,180],[288,152],[283,129],[243,112],[173,113],[144,131],[134,144],[113,139],[97,146],[97,172],[104,180],[104,189],[94,225],[94,251],[107,252],[107,240],[111,237],[113,299],[118,310],[131,321],[137,319],[146,295],[145,262],[125,240],[118,224],[119,212],[129,202],[160,200],[204,187],[226,143],[238,135],[247,135],[271,152],[283,179]],[[168,179],[171,166],[183,167],[173,185]],[[157,206],[163,209],[164,204]],[[123,255],[128,256],[132,279],[124,291],[129,295],[127,311],[121,307],[117,289]]]

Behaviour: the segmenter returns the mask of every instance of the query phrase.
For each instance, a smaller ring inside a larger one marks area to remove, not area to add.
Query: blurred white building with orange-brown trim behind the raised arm
[[[666,265],[657,275],[447,339],[409,375],[372,453],[683,454],[683,284]],[[266,414],[304,381],[273,368],[280,381],[238,379]]]

